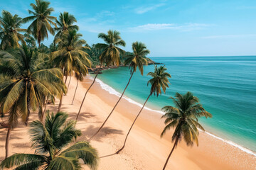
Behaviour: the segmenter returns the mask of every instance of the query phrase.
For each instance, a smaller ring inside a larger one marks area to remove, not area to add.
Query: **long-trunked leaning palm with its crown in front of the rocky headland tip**
[[[127,56],[127,60],[125,60],[125,62],[124,62],[124,65],[129,64],[129,69],[131,71],[131,76],[129,78],[127,86],[129,85],[129,82],[131,81],[134,72],[136,72],[137,67],[139,68],[139,71],[143,75],[143,65],[147,64],[145,56],[149,54],[149,50],[146,50],[146,45],[144,45],[142,42],[133,42],[132,43],[132,50],[133,50],[133,53],[128,55]],[[114,108],[117,107],[117,104],[119,103],[119,101],[121,100],[122,96],[124,95],[124,92],[126,91],[127,86],[125,86],[124,91],[122,92],[122,95],[119,97],[119,100],[117,101],[117,103],[114,105]],[[114,108],[112,109],[110,114],[107,116],[107,118],[104,121],[104,123],[102,123],[100,129],[97,130],[95,135],[97,135],[97,133],[100,132],[100,130],[103,128],[103,126],[107,122],[108,118],[110,118],[110,115],[112,115],[112,113],[114,111]],[[92,137],[94,137],[95,135],[92,135]],[[90,137],[89,140],[91,140],[92,137]]]

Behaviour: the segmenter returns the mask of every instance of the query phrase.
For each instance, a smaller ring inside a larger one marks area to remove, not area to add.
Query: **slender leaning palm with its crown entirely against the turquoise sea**
[[[121,152],[122,149],[124,149],[124,146],[125,146],[125,144],[127,142],[127,137],[129,136],[129,132],[131,132],[134,123],[136,122],[136,120],[139,117],[140,113],[142,113],[142,110],[143,110],[144,106],[146,105],[146,102],[149,100],[149,97],[152,94],[154,94],[156,96],[159,96],[159,94],[161,94],[161,89],[163,89],[163,91],[165,93],[166,92],[166,88],[169,87],[168,84],[170,82],[169,82],[168,78],[171,78],[171,75],[169,73],[167,73],[166,70],[167,69],[164,66],[160,66],[160,67],[155,66],[154,72],[149,72],[147,74],[147,75],[152,77],[152,79],[150,79],[148,81],[148,83],[147,83],[147,85],[151,84],[151,89],[150,89],[149,96],[146,98],[146,101],[145,101],[144,105],[142,106],[142,109],[139,111],[138,115],[134,119],[134,122],[132,123],[131,128],[129,128],[127,136],[125,137],[125,140],[124,140],[124,145],[122,146],[121,149],[119,149],[117,151],[117,154],[119,152]]]

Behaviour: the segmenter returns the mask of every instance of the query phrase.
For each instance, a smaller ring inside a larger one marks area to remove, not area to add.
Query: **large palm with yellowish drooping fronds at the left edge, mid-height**
[[[0,114],[8,114],[6,136],[6,157],[10,132],[21,117],[27,124],[31,109],[38,110],[43,118],[43,103],[47,96],[57,96],[65,92],[61,69],[48,67],[37,52],[26,46],[17,50],[0,52]]]

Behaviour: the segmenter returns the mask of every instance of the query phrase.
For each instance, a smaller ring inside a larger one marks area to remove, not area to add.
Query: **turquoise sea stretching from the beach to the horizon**
[[[206,131],[256,152],[256,56],[151,59],[164,63],[171,74],[171,85],[166,94],[149,98],[148,108],[160,110],[173,105],[170,96],[191,91],[213,115],[200,120]],[[154,65],[144,66],[144,76],[135,73],[124,95],[144,103],[149,95],[146,82],[150,77],[146,74],[153,70]],[[121,93],[129,75],[127,67],[119,67],[98,77]]]

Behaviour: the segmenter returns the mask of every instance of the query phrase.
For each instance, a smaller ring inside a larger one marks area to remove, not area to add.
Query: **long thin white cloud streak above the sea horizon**
[[[199,30],[202,28],[206,28],[208,26],[213,26],[210,24],[204,23],[185,23],[183,25],[175,24],[175,23],[148,23],[142,26],[136,26],[132,28],[128,28],[129,31],[132,32],[143,32],[145,30],[181,30],[181,31],[190,31],[190,30]]]

